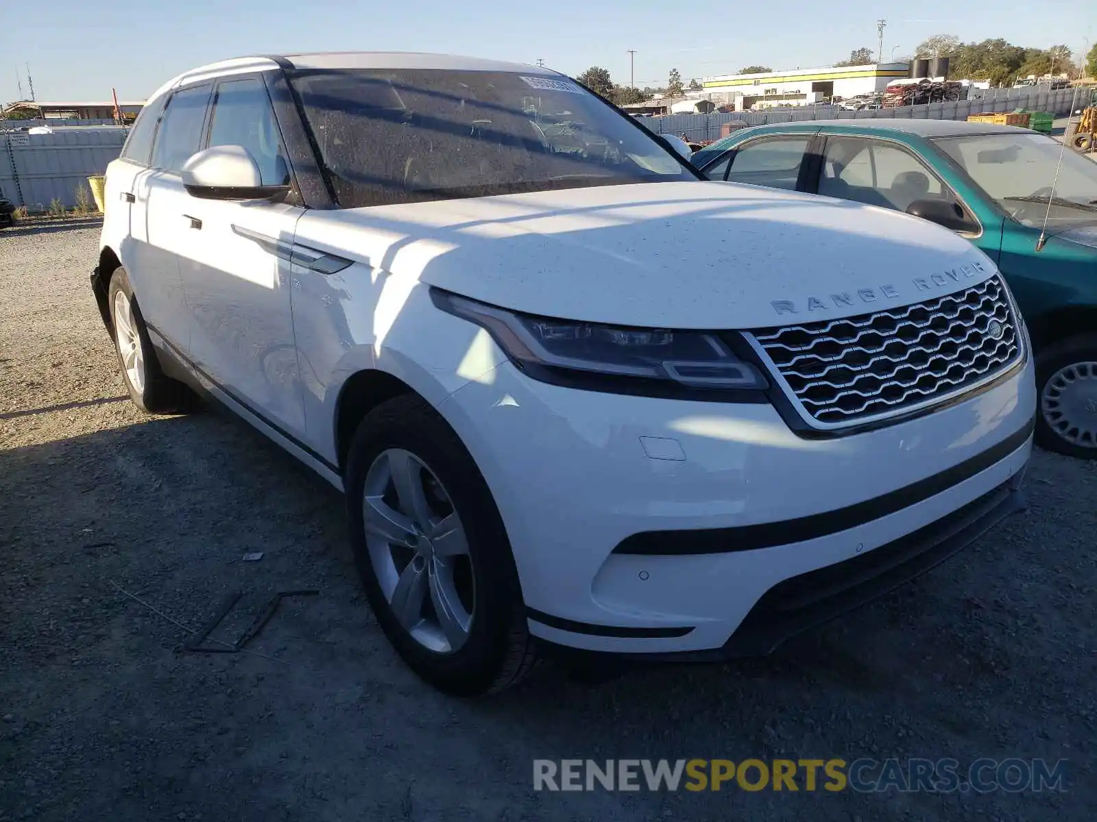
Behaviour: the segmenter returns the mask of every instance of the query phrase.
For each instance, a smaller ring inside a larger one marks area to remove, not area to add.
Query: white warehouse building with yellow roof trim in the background
[[[760,75],[720,75],[704,78],[701,88],[704,96],[735,103],[739,111],[750,109],[756,102],[805,105],[834,96],[845,99],[883,92],[889,83],[908,77],[908,68],[906,62],[882,62]]]

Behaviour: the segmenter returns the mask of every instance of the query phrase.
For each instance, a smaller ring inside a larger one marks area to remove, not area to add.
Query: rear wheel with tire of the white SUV
[[[190,392],[182,383],[168,377],[156,358],[156,349],[148,336],[140,306],[134,298],[133,286],[125,269],[117,267],[111,275],[106,292],[111,309],[114,350],[122,367],[122,380],[129,391],[129,399],[148,414],[173,414],[184,411]]]

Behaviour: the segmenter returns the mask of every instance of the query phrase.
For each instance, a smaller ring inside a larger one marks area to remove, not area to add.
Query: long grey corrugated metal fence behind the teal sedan
[[[666,117],[640,117],[638,121],[656,134],[686,135],[690,140],[715,140],[724,123],[743,122],[751,126],[770,123],[799,123],[812,119],[869,119],[907,117],[916,119],[966,119],[970,114],[1002,114],[1014,109],[1030,109],[1065,116],[1074,100],[1073,89],[986,89],[979,100],[954,103],[904,105],[875,111],[846,111],[835,105],[793,106],[769,109],[761,112],[732,112],[731,114],[671,114]]]

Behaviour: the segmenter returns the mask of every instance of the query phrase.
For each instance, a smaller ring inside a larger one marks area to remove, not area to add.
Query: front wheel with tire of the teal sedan
[[[1036,359],[1036,441],[1048,450],[1097,459],[1097,334],[1048,346]]]

